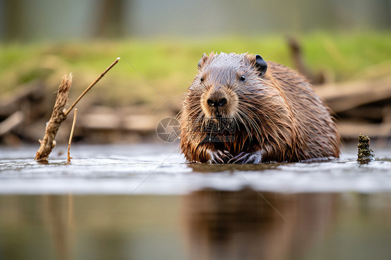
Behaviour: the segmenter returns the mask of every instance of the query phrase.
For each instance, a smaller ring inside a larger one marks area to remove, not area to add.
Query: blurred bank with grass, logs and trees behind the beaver
[[[58,84],[79,103],[74,140],[157,140],[204,52],[249,52],[294,67],[335,112],[345,140],[391,135],[390,0],[0,0],[0,143],[42,138]],[[72,117],[72,115],[70,115]],[[66,142],[72,120],[58,133]]]

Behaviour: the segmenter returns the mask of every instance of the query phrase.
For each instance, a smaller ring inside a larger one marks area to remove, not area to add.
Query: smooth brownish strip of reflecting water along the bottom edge
[[[244,188],[183,196],[0,195],[0,259],[391,255],[390,193],[260,194]]]

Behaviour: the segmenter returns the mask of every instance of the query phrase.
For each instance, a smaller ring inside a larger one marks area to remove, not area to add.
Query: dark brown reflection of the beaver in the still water
[[[330,194],[198,190],[184,198],[186,245],[191,259],[300,258],[324,238],[334,201]]]

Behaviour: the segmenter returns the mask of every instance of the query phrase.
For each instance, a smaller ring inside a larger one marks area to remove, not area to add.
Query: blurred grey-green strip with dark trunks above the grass
[[[1,1],[1,39],[203,38],[390,29],[389,0]]]

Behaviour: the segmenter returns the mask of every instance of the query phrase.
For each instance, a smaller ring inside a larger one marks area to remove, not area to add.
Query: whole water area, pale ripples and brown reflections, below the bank
[[[391,149],[373,148],[199,165],[177,145],[74,145],[42,165],[0,147],[0,259],[390,259]]]

